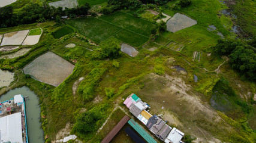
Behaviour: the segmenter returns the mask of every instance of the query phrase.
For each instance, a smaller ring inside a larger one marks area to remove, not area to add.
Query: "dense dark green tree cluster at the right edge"
[[[251,45],[234,39],[218,40],[214,48],[219,55],[228,55],[231,67],[242,77],[256,81],[256,48]]]

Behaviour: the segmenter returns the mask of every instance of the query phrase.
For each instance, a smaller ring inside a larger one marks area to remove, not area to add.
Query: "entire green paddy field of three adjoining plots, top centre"
[[[97,43],[114,36],[119,41],[129,43],[132,46],[140,46],[146,42],[150,36],[150,29],[156,26],[149,21],[120,11],[100,18],[68,20],[67,23]]]

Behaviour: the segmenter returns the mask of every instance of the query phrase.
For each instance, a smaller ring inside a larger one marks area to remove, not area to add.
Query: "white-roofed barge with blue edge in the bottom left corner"
[[[28,143],[26,107],[22,95],[0,102],[0,143]]]

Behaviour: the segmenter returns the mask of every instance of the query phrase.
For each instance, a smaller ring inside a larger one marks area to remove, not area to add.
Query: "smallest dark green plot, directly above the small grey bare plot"
[[[121,32],[118,32],[114,37],[116,39],[119,39],[122,42],[129,43],[129,45],[136,46],[136,47],[147,42],[147,39],[148,39],[144,36],[138,35],[134,32],[130,32],[125,29],[121,30]]]

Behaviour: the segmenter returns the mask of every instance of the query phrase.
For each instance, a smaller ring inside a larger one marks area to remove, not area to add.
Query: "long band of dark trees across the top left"
[[[65,8],[65,10],[62,10],[61,7],[50,7],[46,2],[43,5],[30,2],[14,13],[14,8],[11,5],[7,5],[0,8],[0,28],[43,22],[55,19],[57,16],[67,15],[74,17],[76,15],[87,15],[89,9],[90,5],[88,3],[77,8]]]

